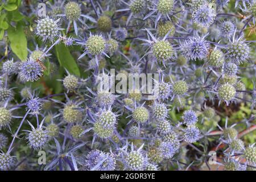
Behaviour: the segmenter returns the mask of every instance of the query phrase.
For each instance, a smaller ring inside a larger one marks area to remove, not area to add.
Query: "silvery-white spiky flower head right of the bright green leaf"
[[[38,24],[36,26],[36,35],[42,38],[43,41],[49,40],[53,42],[53,40],[59,36],[59,20],[53,20],[46,16],[43,19],[38,20]]]

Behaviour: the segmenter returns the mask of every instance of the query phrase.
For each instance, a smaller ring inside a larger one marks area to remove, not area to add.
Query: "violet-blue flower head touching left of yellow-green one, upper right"
[[[195,36],[185,41],[182,47],[183,53],[188,59],[203,59],[207,57],[209,44],[203,38]]]

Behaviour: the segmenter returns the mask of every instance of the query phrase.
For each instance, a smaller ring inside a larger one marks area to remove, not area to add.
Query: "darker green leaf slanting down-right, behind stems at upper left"
[[[77,66],[75,59],[73,59],[71,53],[69,52],[68,47],[65,47],[65,45],[61,43],[55,46],[55,51],[60,65],[66,68],[69,73],[80,76],[79,67]]]

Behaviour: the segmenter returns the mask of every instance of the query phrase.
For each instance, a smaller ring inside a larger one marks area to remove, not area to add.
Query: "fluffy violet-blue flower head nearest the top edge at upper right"
[[[193,11],[192,18],[193,22],[200,27],[209,27],[214,23],[216,13],[212,7],[209,7],[209,5],[202,5]]]

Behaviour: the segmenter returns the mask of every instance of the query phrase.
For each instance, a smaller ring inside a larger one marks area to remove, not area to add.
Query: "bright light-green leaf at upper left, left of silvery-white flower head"
[[[11,42],[11,50],[20,60],[27,59],[27,38],[24,34],[21,23],[17,23],[16,28],[10,26],[7,30]]]

